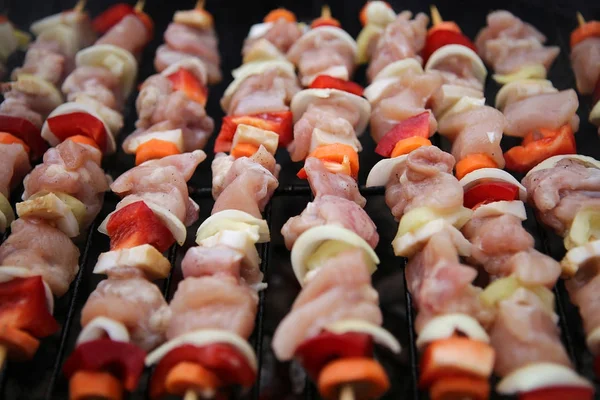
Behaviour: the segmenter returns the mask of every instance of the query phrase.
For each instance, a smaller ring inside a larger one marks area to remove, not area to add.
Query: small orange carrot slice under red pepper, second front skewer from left
[[[200,364],[183,361],[174,366],[165,380],[167,392],[182,396],[188,390],[216,391],[221,381],[213,372]]]

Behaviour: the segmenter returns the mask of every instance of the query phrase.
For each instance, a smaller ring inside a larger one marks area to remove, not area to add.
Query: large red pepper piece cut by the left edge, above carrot
[[[40,276],[0,284],[0,326],[10,326],[38,338],[58,330],[58,323],[48,312],[46,290]]]

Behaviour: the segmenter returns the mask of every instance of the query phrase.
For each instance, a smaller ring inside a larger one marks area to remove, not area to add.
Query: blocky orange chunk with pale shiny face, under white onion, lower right
[[[487,379],[492,374],[496,353],[487,343],[467,337],[450,337],[431,343],[421,357],[420,387],[442,377],[472,376]]]

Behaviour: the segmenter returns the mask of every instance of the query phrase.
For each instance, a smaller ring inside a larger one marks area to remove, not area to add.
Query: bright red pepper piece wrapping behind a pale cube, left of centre
[[[294,138],[294,117],[291,111],[227,116],[223,117],[223,124],[215,141],[215,153],[231,151],[233,136],[240,124],[275,132],[279,135],[280,146],[287,146]]]

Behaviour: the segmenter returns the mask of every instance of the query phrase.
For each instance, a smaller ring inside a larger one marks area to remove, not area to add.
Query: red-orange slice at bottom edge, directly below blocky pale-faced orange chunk
[[[431,400],[487,400],[490,384],[485,379],[448,376],[437,380],[429,390]]]

